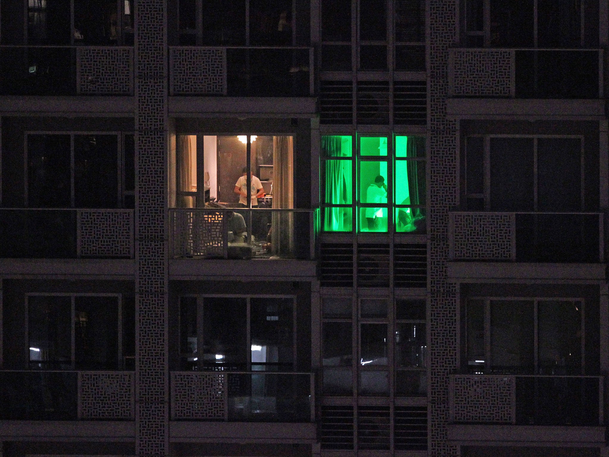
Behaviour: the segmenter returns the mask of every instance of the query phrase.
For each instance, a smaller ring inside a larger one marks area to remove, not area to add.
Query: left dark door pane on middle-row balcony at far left
[[[30,208],[69,208],[70,136],[27,135]]]

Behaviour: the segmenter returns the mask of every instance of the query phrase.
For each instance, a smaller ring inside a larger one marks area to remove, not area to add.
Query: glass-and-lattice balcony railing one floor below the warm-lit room
[[[171,420],[315,422],[314,405],[312,373],[171,373]]]

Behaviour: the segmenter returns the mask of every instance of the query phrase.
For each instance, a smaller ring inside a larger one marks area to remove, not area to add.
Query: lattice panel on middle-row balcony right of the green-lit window
[[[453,213],[455,260],[515,260],[515,214]]]

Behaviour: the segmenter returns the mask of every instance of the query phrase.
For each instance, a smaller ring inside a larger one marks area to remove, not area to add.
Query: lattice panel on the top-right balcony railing
[[[512,94],[513,51],[454,49],[452,53],[454,95],[509,97]]]

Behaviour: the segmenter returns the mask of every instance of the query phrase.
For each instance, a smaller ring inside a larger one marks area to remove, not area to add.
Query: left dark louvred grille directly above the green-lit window
[[[320,82],[319,105],[322,124],[352,124],[353,82]]]

